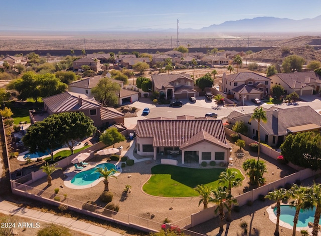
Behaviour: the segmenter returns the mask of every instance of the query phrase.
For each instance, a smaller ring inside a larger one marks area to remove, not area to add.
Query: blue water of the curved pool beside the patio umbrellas
[[[116,169],[116,165],[112,163],[101,163],[97,164],[95,167],[88,169],[88,170],[83,170],[79,173],[77,173],[73,179],[71,179],[71,183],[74,185],[87,185],[92,183],[93,181],[97,180],[99,178],[99,173],[95,172],[97,168],[105,168],[107,167],[108,170],[110,169]]]

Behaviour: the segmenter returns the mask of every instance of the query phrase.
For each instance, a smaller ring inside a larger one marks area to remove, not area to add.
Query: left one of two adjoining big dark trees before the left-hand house
[[[26,135],[22,138],[25,146],[29,147],[30,153],[37,151],[48,152],[51,160],[54,160],[54,150],[64,143],[64,132],[60,119],[48,116],[42,121],[36,122],[28,128]]]

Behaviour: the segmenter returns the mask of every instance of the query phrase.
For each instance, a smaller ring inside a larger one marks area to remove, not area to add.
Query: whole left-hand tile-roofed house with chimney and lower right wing
[[[81,111],[94,121],[97,127],[124,123],[124,114],[112,107],[104,107],[94,97],[71,91],[43,98],[49,115],[61,112]]]

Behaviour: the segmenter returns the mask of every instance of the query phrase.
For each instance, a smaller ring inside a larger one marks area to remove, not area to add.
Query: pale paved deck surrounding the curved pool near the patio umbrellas
[[[64,171],[64,174],[67,176],[67,178],[64,180],[64,184],[66,187],[69,187],[69,188],[73,188],[73,189],[84,189],[84,188],[89,188],[89,187],[92,187],[92,186],[95,186],[97,185],[101,180],[103,180],[104,178],[98,178],[96,179],[95,181],[93,181],[92,183],[90,184],[86,184],[86,185],[75,185],[75,184],[72,184],[71,183],[71,180],[73,179],[73,177],[77,174],[77,173],[80,173],[81,171],[86,171],[88,169],[91,169],[91,168],[94,168],[97,164],[103,164],[103,163],[106,163],[106,161],[89,161],[87,162],[88,165],[86,165],[86,167],[84,167],[83,169],[81,170],[76,170],[75,166],[72,165],[71,167],[68,167],[65,171]],[[108,163],[111,163],[111,164],[118,164],[119,161],[115,162],[115,161],[110,161]],[[118,165],[117,165],[118,166]],[[122,172],[122,169],[119,167],[119,169],[117,169],[117,173],[114,174],[114,176],[118,176],[121,172]]]

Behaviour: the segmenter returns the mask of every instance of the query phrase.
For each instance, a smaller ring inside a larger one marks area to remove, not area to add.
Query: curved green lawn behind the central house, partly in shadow
[[[244,176],[238,169],[238,177]],[[218,177],[225,168],[187,168],[175,165],[159,164],[151,168],[152,176],[143,185],[146,193],[154,196],[186,197],[198,196],[194,190],[197,184],[218,186]]]

